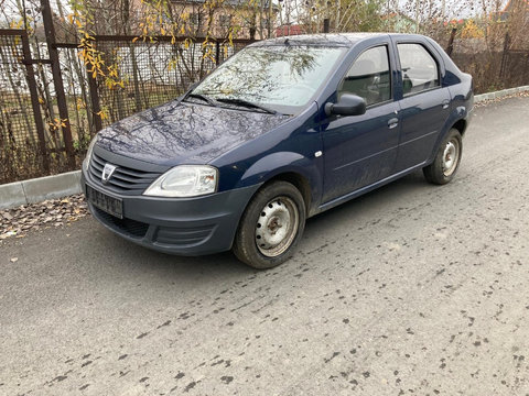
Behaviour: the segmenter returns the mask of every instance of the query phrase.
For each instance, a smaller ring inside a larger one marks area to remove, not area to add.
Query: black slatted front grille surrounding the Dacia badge
[[[93,179],[99,185],[102,185],[102,168],[105,167],[105,164],[107,162],[109,161],[106,161],[96,153],[91,154],[90,175]],[[130,167],[116,164],[114,162],[110,163],[112,165],[116,165],[117,168],[108,183],[105,185],[105,187],[116,193],[121,193],[126,195],[141,195],[147,189],[147,187],[149,187],[161,175],[161,173],[132,169]]]

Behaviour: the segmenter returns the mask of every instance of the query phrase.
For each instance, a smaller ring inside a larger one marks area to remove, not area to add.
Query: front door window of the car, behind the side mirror
[[[338,86],[338,98],[344,94],[357,95],[367,106],[391,99],[388,48],[386,45],[361,53]]]

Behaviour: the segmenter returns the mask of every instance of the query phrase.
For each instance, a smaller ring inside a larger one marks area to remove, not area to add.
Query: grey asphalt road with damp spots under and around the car
[[[454,183],[320,215],[266,272],[90,218],[7,240],[0,394],[527,395],[528,158],[529,98],[479,108]]]

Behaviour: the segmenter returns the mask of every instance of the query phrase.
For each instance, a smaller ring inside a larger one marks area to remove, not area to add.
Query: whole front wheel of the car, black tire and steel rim
[[[272,268],[292,256],[305,219],[305,202],[296,187],[287,182],[266,185],[242,213],[233,251],[253,268]]]

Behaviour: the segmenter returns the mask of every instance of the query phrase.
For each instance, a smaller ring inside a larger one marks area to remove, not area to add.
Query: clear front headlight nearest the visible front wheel
[[[153,197],[196,197],[217,189],[218,170],[207,165],[180,165],[165,172],[143,193]]]

